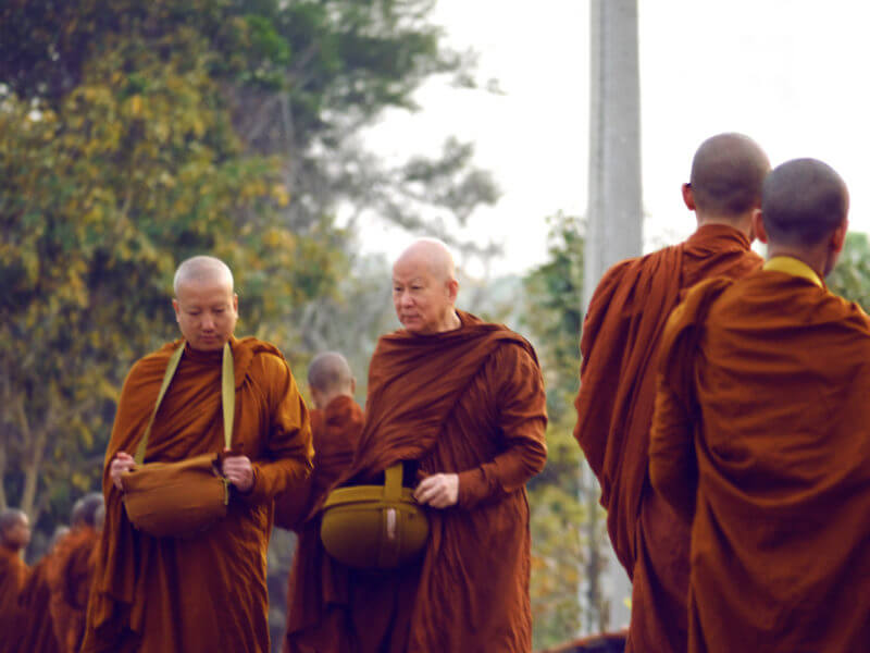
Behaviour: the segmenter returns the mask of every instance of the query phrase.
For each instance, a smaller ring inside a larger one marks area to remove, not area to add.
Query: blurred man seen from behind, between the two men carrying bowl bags
[[[298,501],[278,497],[275,502],[276,523],[299,537],[287,593],[285,653],[347,651],[349,645],[344,613],[333,606],[336,597],[330,595],[328,582],[322,582],[328,580],[330,560],[320,541],[320,516],[311,510],[353,460],[363,415],[353,401],[357,381],[340,354],[315,356],[308,368],[308,386],[315,408],[311,411],[311,488],[301,510]]]

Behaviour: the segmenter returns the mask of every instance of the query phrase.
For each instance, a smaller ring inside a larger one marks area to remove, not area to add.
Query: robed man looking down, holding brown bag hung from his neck
[[[313,451],[308,410],[281,352],[236,338],[238,296],[226,264],[184,261],[174,280],[183,340],[146,356],[127,375],[105,454],[105,526],[100,537],[82,650],[198,653],[270,650],[266,547],[274,497],[302,482]],[[142,438],[170,356],[178,369],[154,417],[145,461],[174,461],[224,449],[221,370],[228,343],[235,372],[232,447],[220,472],[231,484],[226,517],[189,537],[136,530],[122,477]]]

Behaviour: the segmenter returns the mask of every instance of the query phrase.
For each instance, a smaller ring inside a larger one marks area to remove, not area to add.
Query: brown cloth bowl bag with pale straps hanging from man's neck
[[[133,526],[156,538],[192,537],[226,516],[229,486],[219,473],[219,454],[201,454],[174,463],[145,464],[145,452],[160,403],[175,375],[185,343],[173,352],[163,374],[154,410],[136,448],[136,467],[121,477],[124,506]],[[224,345],[221,369],[224,445],[231,448],[236,405],[233,352]]]

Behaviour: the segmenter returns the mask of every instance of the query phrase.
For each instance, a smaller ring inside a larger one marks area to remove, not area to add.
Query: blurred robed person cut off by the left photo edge
[[[30,543],[30,521],[17,508],[0,512],[0,652],[18,650],[22,613],[18,594],[27,579],[22,554]]]

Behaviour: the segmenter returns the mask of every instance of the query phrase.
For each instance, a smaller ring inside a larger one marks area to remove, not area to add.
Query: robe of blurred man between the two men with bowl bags
[[[311,411],[311,433],[314,439],[314,472],[311,475],[311,492],[308,510],[301,523],[287,523],[299,535],[287,592],[287,636],[285,653],[308,651],[347,651],[348,627],[344,613],[334,609],[335,596],[328,593],[328,555],[320,541],[320,517],[310,510],[320,504],[353,460],[363,414],[357,403],[348,396],[330,402],[323,410]],[[281,497],[275,502],[275,520],[284,526]]]

